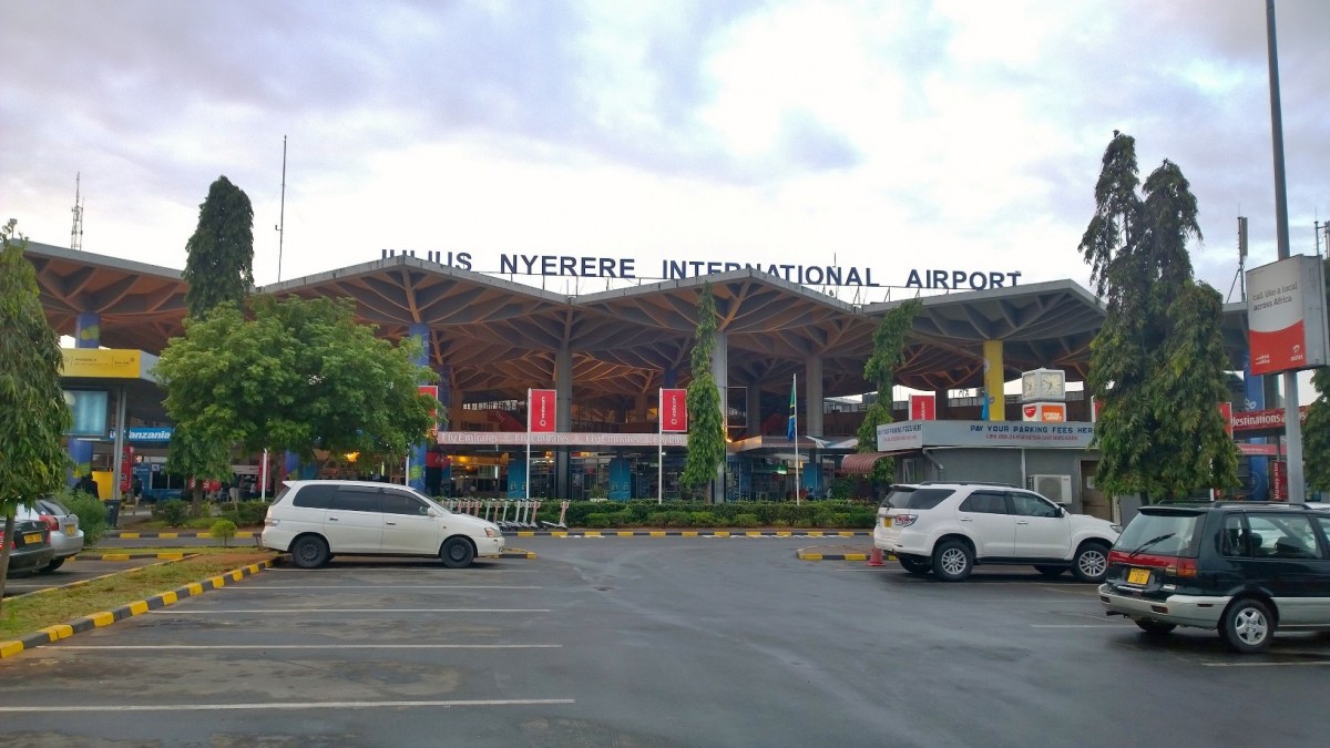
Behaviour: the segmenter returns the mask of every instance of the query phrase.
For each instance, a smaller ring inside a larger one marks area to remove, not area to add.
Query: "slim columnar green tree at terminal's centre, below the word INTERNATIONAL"
[[[697,342],[693,345],[693,378],[688,383],[688,458],[680,476],[681,482],[692,486],[716,480],[725,459],[721,391],[712,377],[714,349],[716,297],[712,295],[712,283],[706,283],[697,299]]]

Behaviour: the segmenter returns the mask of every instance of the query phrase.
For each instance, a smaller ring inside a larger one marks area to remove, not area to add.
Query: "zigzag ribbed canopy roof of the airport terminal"
[[[184,331],[180,270],[31,242],[41,303],[52,326],[74,333],[80,311],[101,317],[101,345],[157,354]],[[761,270],[563,295],[415,257],[295,278],[255,293],[354,299],[360,321],[399,339],[430,329],[431,363],[448,366],[468,402],[524,399],[555,381],[571,351],[573,398],[620,407],[652,395],[666,371],[686,383],[698,294],[710,283],[726,333],[732,386],[779,394],[810,358],[822,359],[823,395],[871,390],[863,363],[882,315],[900,301],[851,305]],[[1003,341],[1004,378],[1039,367],[1084,379],[1103,322],[1099,301],[1073,281],[923,297],[898,382],[919,390],[979,387],[983,342]],[[1230,350],[1245,349],[1245,305],[1225,307]],[[1240,359],[1237,359],[1240,361]]]

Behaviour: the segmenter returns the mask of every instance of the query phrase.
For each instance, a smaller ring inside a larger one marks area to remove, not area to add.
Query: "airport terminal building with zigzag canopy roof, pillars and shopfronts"
[[[80,437],[88,446],[77,447],[85,451],[76,462],[94,471],[122,461],[154,465],[165,455],[170,422],[150,369],[168,341],[184,333],[182,273],[37,242],[27,257],[37,270],[47,318],[76,341],[74,351],[66,351],[66,390],[92,401],[90,413],[101,407],[109,414],[109,429],[96,419],[85,423]],[[717,309],[712,371],[729,439],[717,482],[724,495],[716,500],[826,495],[834,479],[895,459],[902,478],[1029,483],[1047,476],[1047,486],[1069,491],[1053,498],[1097,510],[1095,455],[1085,449],[1093,427],[1080,393],[1067,393],[1057,421],[1020,427],[1023,438],[1012,430],[988,441],[974,437],[1027,423],[1020,395],[984,397],[1001,393],[1021,373],[1055,370],[1068,382],[1084,381],[1104,309],[1073,281],[1012,285],[1016,274],[911,270],[912,287],[894,289],[896,298],[847,303],[803,285],[846,282],[830,278],[830,268],[811,278],[813,270],[803,268],[791,274],[790,266],[694,264],[666,266],[678,276],[666,281],[569,295],[476,273],[458,260],[384,252],[379,260],[254,290],[350,298],[359,321],[380,335],[424,341],[448,425],[411,479],[435,494],[678,496],[686,434],[661,434],[658,399],[662,389],[685,387],[690,379],[697,302],[710,287]],[[571,270],[587,270],[587,260],[595,258],[581,258]],[[569,270],[563,258],[541,264]],[[624,270],[597,262],[589,268]],[[855,280],[864,282],[862,274]],[[927,418],[912,418],[920,414],[911,414],[908,403],[895,403],[895,418],[935,423],[920,425],[891,449],[855,454],[862,395],[871,389],[863,366],[872,333],[886,311],[916,294],[923,309],[896,383],[934,397]],[[1225,335],[1241,370],[1245,305],[1225,307]],[[787,431],[791,385],[794,439]],[[533,389],[555,391],[552,433],[528,435]],[[1053,438],[1052,429],[1068,427],[1079,434],[1075,439]],[[400,480],[403,468],[390,466],[390,474]],[[278,467],[309,470],[291,462]]]

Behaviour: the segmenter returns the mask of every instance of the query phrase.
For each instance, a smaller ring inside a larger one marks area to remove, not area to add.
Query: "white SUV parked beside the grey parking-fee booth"
[[[946,582],[986,563],[1031,564],[1045,576],[1071,568],[1081,582],[1103,582],[1120,531],[1013,486],[924,482],[891,487],[872,544],[910,574],[931,571]]]

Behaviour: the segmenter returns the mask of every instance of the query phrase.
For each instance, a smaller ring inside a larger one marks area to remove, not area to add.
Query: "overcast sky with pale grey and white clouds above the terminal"
[[[1330,3],[1279,0],[1294,254],[1330,218]],[[1115,129],[1192,182],[1197,276],[1275,260],[1265,3],[4,0],[0,220],[182,269],[207,188],[254,276],[382,249],[1020,273],[1077,244]],[[604,281],[516,277],[557,291]],[[898,286],[891,289],[888,286]],[[826,290],[818,286],[819,290]],[[854,301],[854,290],[839,294]]]

